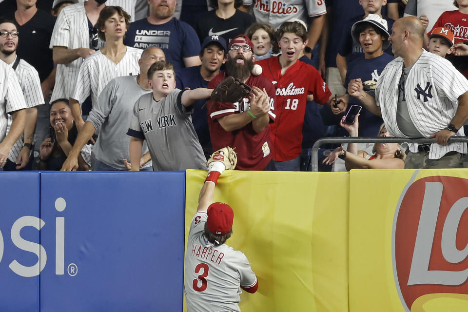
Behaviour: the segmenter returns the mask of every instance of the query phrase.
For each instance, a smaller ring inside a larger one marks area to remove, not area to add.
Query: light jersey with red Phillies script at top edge
[[[254,4],[257,22],[269,23],[275,29],[291,19],[303,20],[307,25],[309,17],[327,13],[325,0],[244,0],[243,4]]]

